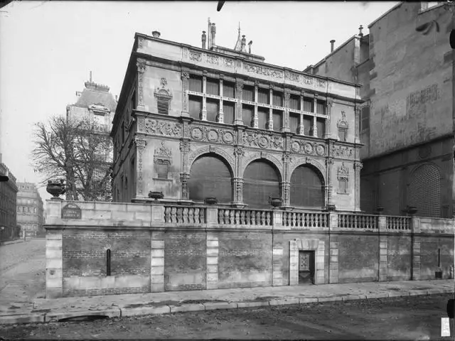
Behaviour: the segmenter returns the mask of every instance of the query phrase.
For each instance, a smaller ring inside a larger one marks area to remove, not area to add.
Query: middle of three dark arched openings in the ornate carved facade
[[[243,181],[243,202],[251,208],[270,208],[269,197],[280,197],[279,172],[269,161],[250,163]]]

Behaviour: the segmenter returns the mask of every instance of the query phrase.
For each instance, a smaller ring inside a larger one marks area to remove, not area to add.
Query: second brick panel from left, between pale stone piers
[[[207,240],[204,232],[169,232],[164,236],[164,289],[205,289]]]

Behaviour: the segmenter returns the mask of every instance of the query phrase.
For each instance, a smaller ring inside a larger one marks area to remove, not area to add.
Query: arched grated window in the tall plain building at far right
[[[419,217],[441,217],[441,180],[436,166],[427,163],[414,171],[408,202],[417,207]]]

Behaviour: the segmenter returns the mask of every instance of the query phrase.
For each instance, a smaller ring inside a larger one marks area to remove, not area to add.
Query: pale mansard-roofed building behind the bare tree
[[[117,101],[114,95],[109,92],[109,87],[92,82],[92,72],[90,72],[90,81],[85,82],[85,89],[82,92],[76,92],[76,96],[75,104],[66,107],[67,117],[69,119],[95,121],[98,129],[97,134],[104,134],[109,139],[109,131],[112,129],[112,119],[114,119],[115,108],[117,107]],[[105,162],[100,163],[99,167],[95,168],[93,179],[100,181],[105,178],[110,166],[112,166],[112,151],[108,151]],[[101,190],[96,188],[96,185],[91,190],[97,193],[93,195],[97,201],[112,200],[110,179]]]

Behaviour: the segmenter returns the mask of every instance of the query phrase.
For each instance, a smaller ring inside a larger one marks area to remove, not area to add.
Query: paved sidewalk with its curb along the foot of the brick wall
[[[34,302],[1,304],[0,323],[58,322],[65,318],[86,315],[105,315],[112,318],[261,305],[431,295],[435,293],[454,293],[454,280],[275,286],[71,297],[54,300],[37,299]]]

